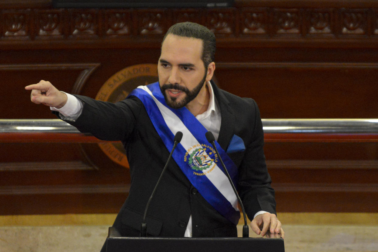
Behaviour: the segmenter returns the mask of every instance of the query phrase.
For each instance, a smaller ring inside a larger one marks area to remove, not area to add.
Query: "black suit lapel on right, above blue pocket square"
[[[234,135],[235,117],[232,113],[231,107],[229,106],[229,101],[226,96],[220,92],[219,88],[213,81],[211,81],[211,85],[214,90],[214,95],[217,98],[222,118],[217,142],[220,144],[223,150],[226,151],[228,144],[232,136]]]

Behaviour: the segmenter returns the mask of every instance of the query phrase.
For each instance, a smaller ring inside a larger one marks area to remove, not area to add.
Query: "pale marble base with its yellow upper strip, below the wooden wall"
[[[0,252],[99,251],[115,216],[0,216]],[[286,252],[378,252],[378,213],[279,213],[278,216],[284,223]],[[239,237],[241,229],[240,221]],[[249,234],[257,237],[251,229]]]

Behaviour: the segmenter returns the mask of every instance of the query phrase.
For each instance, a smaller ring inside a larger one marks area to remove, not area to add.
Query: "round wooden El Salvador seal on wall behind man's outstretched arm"
[[[129,66],[110,77],[102,85],[95,99],[106,102],[118,102],[125,99],[136,87],[156,81],[158,81],[158,68],[156,64]],[[98,145],[112,161],[129,168],[126,152],[121,143],[103,142]]]

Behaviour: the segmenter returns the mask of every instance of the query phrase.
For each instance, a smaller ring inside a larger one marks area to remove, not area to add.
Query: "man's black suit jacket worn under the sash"
[[[274,190],[266,170],[263,131],[256,102],[220,90],[212,83],[221,112],[218,143],[224,150],[231,137],[241,137],[246,150],[229,156],[239,169],[239,194],[249,219],[265,210],[276,213]],[[124,236],[139,236],[147,200],[158,180],[169,150],[153,127],[142,102],[130,97],[116,104],[77,96],[84,102],[81,116],[70,122],[81,132],[103,140],[121,140],[130,164],[129,196],[113,224]],[[183,237],[192,215],[193,237],[237,236],[236,227],[220,215],[191,185],[172,160],[147,213],[147,234]]]

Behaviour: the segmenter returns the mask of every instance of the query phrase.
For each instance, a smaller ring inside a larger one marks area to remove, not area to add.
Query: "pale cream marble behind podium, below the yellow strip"
[[[108,225],[3,226],[1,252],[99,251]],[[251,231],[250,231],[251,232]],[[252,235],[256,237],[256,235]],[[285,225],[287,252],[378,251],[378,227],[356,225]]]

